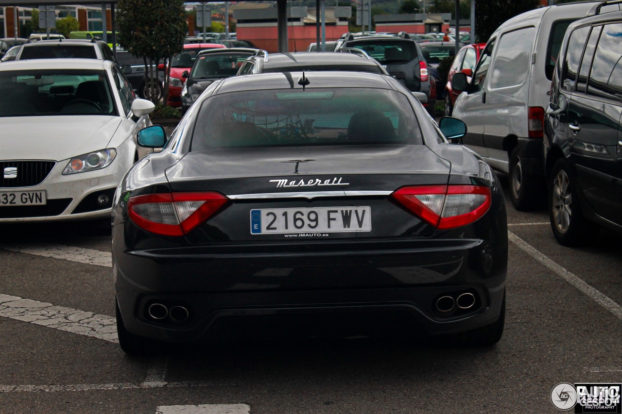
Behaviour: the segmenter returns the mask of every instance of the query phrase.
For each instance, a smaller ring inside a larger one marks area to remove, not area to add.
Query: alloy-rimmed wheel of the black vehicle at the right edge
[[[555,239],[564,246],[588,244],[600,232],[597,224],[583,216],[577,187],[564,159],[555,162],[549,177],[549,218]]]

